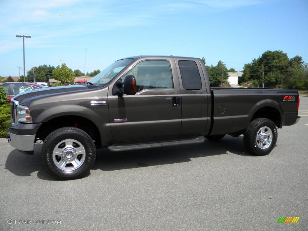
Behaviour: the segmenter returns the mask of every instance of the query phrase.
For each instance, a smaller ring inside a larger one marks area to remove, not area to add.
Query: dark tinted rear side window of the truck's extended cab
[[[200,73],[195,61],[180,60],[178,62],[185,90],[200,90],[202,88]]]

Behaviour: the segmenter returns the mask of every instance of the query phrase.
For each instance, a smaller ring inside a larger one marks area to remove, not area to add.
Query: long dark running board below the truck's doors
[[[120,152],[120,151],[146,149],[146,148],[160,148],[160,147],[180,145],[180,144],[197,144],[197,143],[203,143],[204,140],[205,140],[204,136],[199,136],[193,139],[172,140],[172,141],[164,141],[158,143],[114,144],[108,146],[107,148],[112,152]]]

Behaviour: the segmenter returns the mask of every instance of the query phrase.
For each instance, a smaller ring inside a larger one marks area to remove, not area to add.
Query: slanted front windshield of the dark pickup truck
[[[99,72],[99,74],[95,75],[89,82],[94,85],[106,85],[133,60],[134,59],[121,59],[115,61],[109,67],[106,67],[103,71]]]

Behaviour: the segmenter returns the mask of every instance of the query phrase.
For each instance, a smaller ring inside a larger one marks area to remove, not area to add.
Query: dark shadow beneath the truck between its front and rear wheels
[[[191,161],[192,158],[222,154],[232,155],[232,153],[241,156],[255,157],[246,151],[243,144],[243,137],[233,138],[231,136],[226,136],[217,142],[205,140],[202,144],[179,145],[176,147],[170,146],[124,152],[111,152],[107,148],[98,149],[96,161],[92,169],[113,171],[158,166],[188,162]]]

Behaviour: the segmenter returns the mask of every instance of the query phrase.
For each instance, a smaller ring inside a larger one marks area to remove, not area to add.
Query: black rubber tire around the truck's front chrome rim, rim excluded
[[[43,162],[45,163],[45,167],[56,177],[62,179],[74,179],[83,175],[88,169],[91,168],[93,161],[95,161],[95,145],[90,136],[88,136],[83,131],[70,131],[68,129],[62,129],[62,132],[55,131],[55,134],[52,135],[49,139],[47,139],[46,144],[43,147]],[[85,149],[85,160],[83,164],[72,171],[65,171],[56,166],[53,161],[52,153],[55,146],[66,139],[74,139],[80,142]]]

